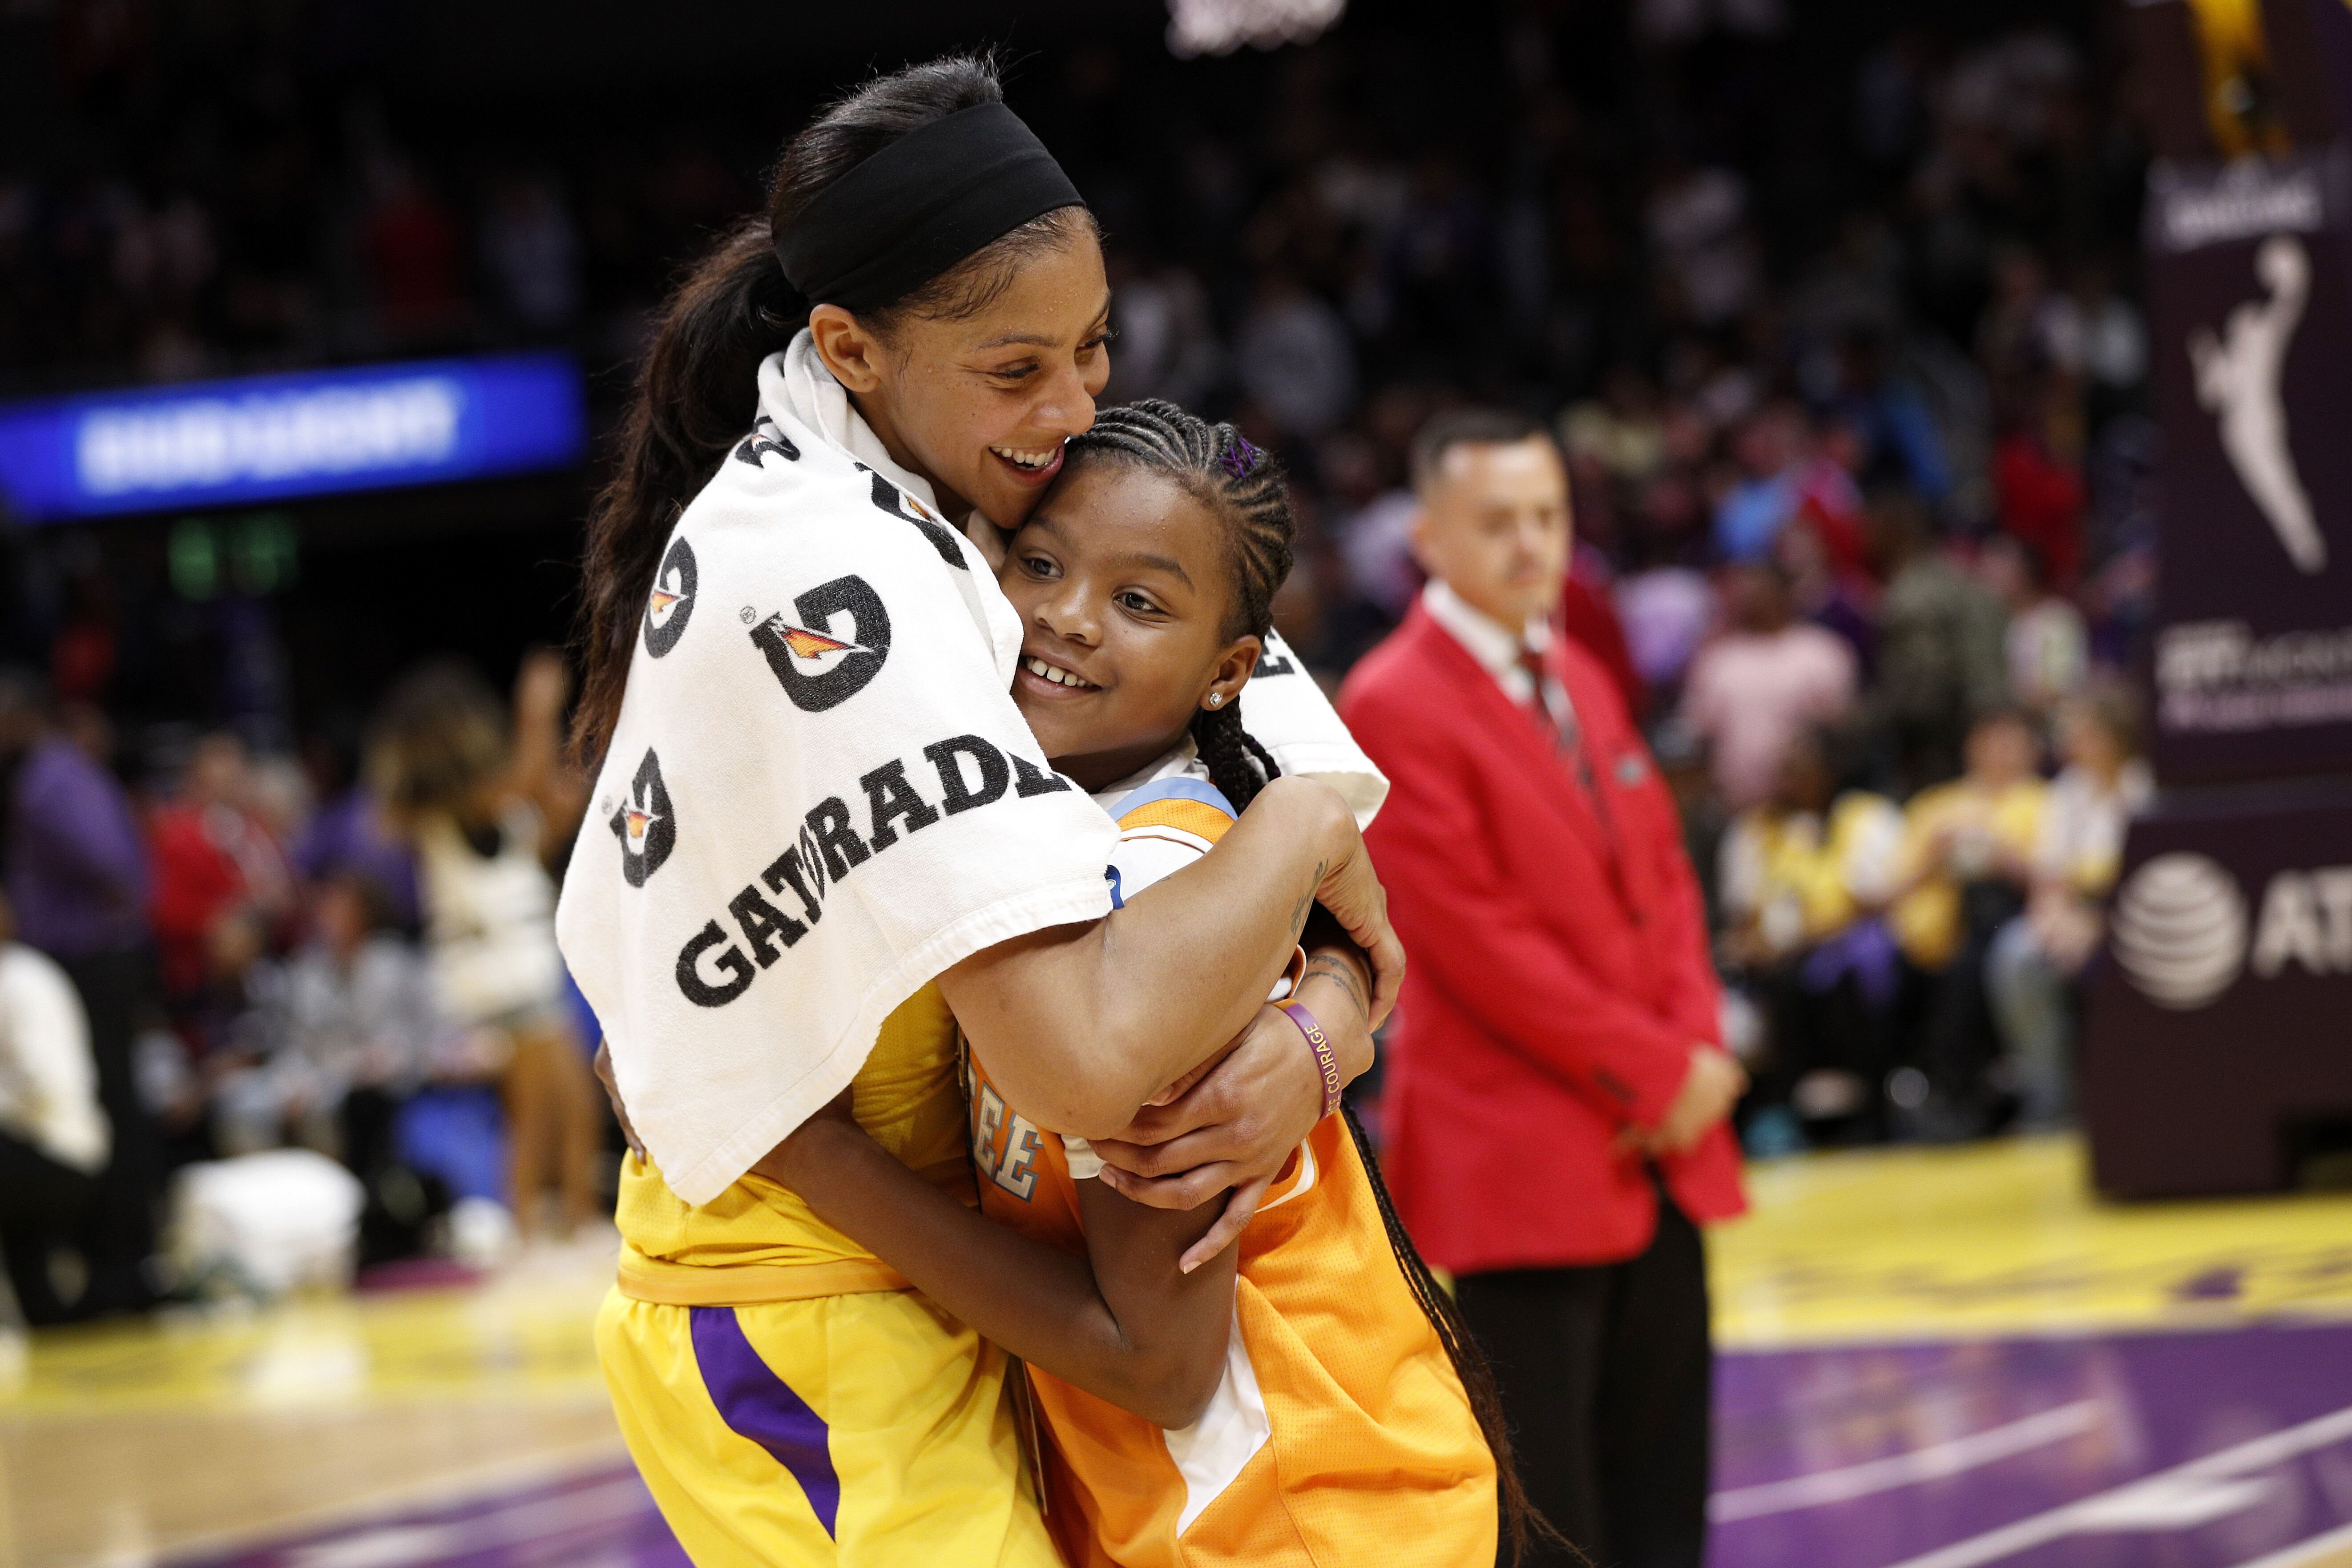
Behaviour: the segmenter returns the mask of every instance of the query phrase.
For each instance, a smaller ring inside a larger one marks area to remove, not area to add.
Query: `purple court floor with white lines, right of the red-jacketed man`
[[[1724,1354],[1712,1568],[2237,1568],[2352,1521],[2352,1326]]]

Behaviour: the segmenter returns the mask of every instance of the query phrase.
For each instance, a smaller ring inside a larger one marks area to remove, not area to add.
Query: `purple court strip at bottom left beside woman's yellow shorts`
[[[628,1462],[176,1568],[694,1568]]]

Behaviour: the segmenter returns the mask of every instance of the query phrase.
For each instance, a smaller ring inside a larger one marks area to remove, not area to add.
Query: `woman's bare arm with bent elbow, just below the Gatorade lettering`
[[[1249,1025],[1334,856],[1350,851],[1334,790],[1275,780],[1200,863],[1091,926],[978,952],[941,992],[1009,1103],[1108,1138]]]

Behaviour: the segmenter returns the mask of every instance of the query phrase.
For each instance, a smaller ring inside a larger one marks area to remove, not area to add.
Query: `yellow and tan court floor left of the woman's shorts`
[[[35,1335],[0,1385],[0,1568],[139,1568],[621,1458],[612,1246],[480,1288]]]

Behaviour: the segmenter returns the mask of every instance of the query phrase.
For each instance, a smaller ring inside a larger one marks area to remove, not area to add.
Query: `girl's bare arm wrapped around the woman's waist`
[[[849,1119],[847,1095],[757,1166],[1011,1354],[1160,1427],[1190,1427],[1223,1378],[1237,1248],[1183,1274],[1216,1206],[1145,1208],[1077,1182],[1087,1255],[1033,1241],[929,1185]]]

